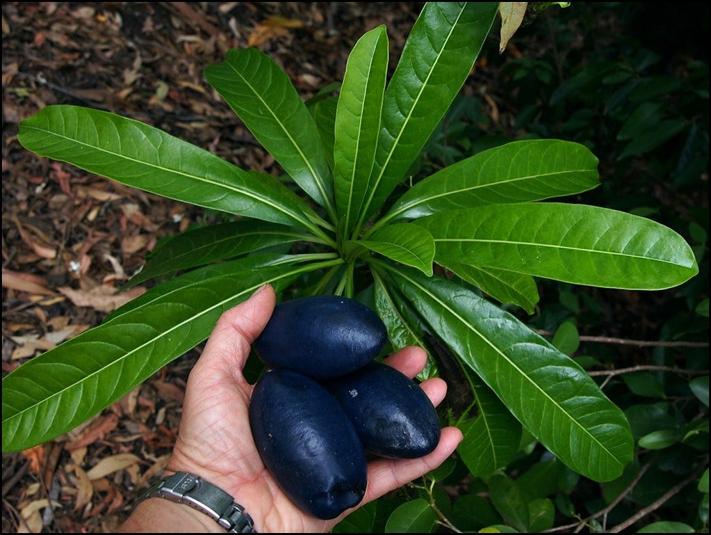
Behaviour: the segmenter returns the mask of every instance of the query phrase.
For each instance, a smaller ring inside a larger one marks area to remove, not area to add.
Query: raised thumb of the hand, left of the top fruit
[[[276,301],[274,288],[265,284],[249,299],[225,311],[215,324],[196,368],[241,371],[250,356],[252,342],[272,317]]]

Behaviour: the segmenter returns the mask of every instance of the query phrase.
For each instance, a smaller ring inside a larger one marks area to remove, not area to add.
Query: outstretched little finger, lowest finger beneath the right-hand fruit
[[[417,459],[377,459],[368,465],[368,488],[363,504],[407,484],[442,464],[454,453],[464,435],[455,427],[442,429],[439,444],[429,455]]]

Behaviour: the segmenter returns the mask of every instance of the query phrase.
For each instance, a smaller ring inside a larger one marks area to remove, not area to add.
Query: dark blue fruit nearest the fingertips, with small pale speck
[[[413,459],[432,452],[441,429],[437,410],[419,385],[380,362],[324,381],[363,442],[380,457]]]

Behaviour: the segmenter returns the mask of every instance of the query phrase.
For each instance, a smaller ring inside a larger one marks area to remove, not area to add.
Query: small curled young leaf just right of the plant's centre
[[[381,228],[371,238],[350,243],[432,275],[434,240],[424,228],[412,223],[395,223]]]

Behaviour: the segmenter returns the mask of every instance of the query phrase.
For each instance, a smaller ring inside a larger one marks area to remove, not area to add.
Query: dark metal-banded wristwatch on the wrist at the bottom
[[[138,500],[165,498],[178,504],[186,504],[217,521],[228,533],[257,533],[254,522],[245,508],[237,504],[230,494],[201,477],[185,472],[176,472],[164,477],[149,488]]]

